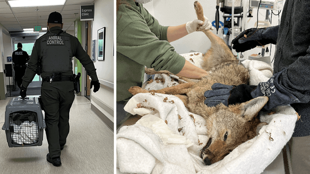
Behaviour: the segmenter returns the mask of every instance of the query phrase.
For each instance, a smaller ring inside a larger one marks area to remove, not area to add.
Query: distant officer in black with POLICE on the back
[[[17,49],[12,53],[13,68],[15,71],[15,81],[20,88],[23,80],[21,79],[25,75],[26,63],[29,61],[29,55],[26,51],[22,50],[23,45],[17,44]]]

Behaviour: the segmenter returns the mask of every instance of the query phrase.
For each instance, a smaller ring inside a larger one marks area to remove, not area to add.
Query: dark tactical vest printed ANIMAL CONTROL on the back
[[[65,32],[47,32],[41,40],[42,72],[66,72],[72,70],[70,36]]]

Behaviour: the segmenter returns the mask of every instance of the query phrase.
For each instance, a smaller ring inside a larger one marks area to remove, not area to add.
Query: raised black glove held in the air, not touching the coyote
[[[232,49],[235,49],[237,52],[244,52],[256,46],[263,46],[270,43],[277,44],[278,31],[278,26],[247,29],[232,40]]]

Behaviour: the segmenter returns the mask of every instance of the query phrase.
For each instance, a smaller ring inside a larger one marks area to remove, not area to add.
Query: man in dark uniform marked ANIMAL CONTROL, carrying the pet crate
[[[31,57],[23,77],[21,97],[37,73],[42,59],[42,106],[45,111],[45,129],[48,151],[47,161],[60,166],[60,150],[64,148],[69,134],[69,112],[74,100],[72,57],[76,57],[91,77],[94,92],[100,88],[94,63],[83,50],[78,38],[62,30],[62,16],[52,12],[47,21],[48,31],[33,46]]]

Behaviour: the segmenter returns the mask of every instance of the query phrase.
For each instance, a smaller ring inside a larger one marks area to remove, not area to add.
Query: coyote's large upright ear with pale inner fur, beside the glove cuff
[[[257,116],[258,112],[263,108],[267,101],[267,96],[261,96],[242,103],[240,105],[241,116],[245,118],[245,121],[250,121]]]

